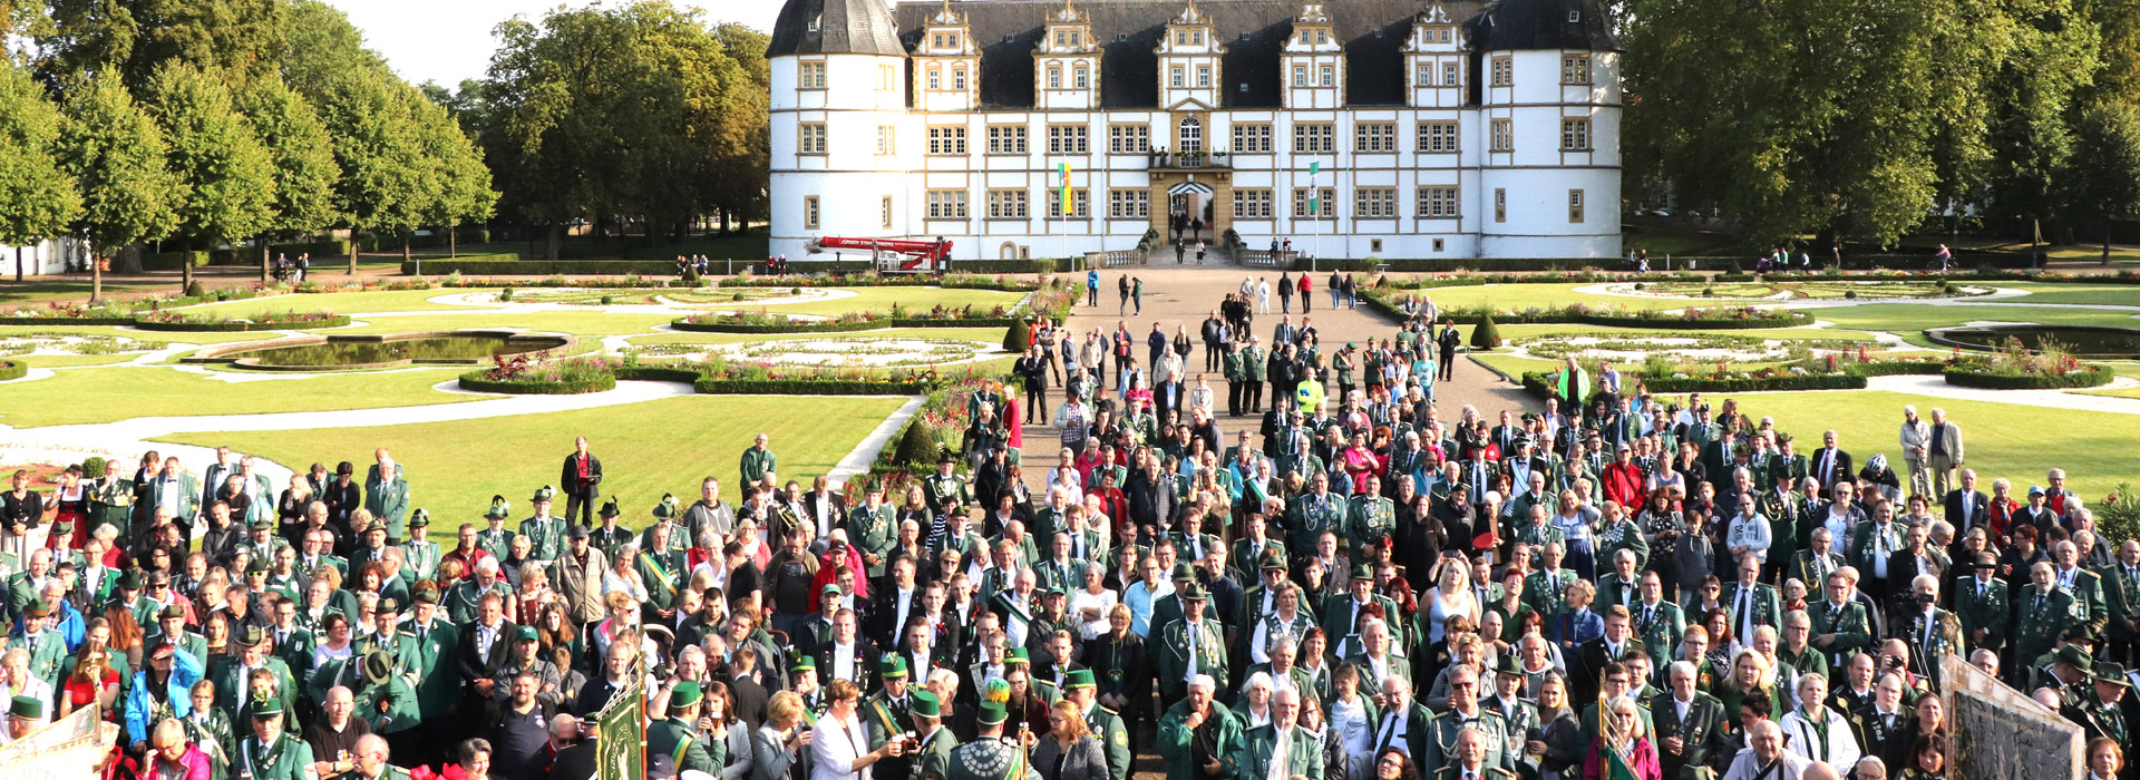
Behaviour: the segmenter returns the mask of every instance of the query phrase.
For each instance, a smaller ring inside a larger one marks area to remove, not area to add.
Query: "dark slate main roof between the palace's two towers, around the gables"
[[[805,2],[805,0],[790,0]],[[830,2],[830,0],[828,0]],[[1515,2],[1515,0],[1509,0]],[[1588,0],[1571,0],[1588,2]],[[965,0],[952,2],[965,15],[980,45],[980,103],[991,109],[1034,105],[1034,45],[1046,32],[1046,17],[1061,0]],[[1160,103],[1160,62],[1153,49],[1166,34],[1166,21],[1181,13],[1181,0],[1076,0],[1091,17],[1091,36],[1100,41],[1100,105],[1106,109],[1149,109]],[[1338,38],[1346,43],[1346,103],[1404,105],[1404,38],[1412,19],[1427,9],[1419,0],[1325,0]],[[1447,0],[1449,19],[1464,24],[1481,13],[1485,2]],[[929,17],[942,11],[939,0],[901,2],[899,36],[907,47],[920,43]],[[1224,109],[1280,107],[1280,53],[1293,32],[1299,0],[1205,0],[1196,6],[1226,43]],[[781,15],[781,24],[788,15]],[[775,47],[779,32],[775,32]],[[1241,85],[1248,85],[1243,92]]]

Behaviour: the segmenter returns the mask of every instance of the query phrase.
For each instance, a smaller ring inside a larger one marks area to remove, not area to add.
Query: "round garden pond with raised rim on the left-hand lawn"
[[[524,336],[511,331],[443,331],[392,336],[297,336],[270,342],[203,350],[188,363],[231,363],[240,368],[310,372],[387,365],[479,365],[496,355],[546,353],[571,346],[569,336]]]

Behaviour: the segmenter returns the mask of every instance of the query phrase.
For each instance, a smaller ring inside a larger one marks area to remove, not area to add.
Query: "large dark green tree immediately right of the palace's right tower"
[[[1633,180],[1669,180],[1757,244],[1892,241],[1930,212],[1941,156],[1982,156],[1986,75],[2012,51],[1988,0],[1629,0]]]

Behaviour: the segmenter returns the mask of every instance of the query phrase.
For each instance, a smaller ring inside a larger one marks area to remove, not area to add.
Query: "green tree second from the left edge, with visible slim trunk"
[[[167,147],[116,73],[96,75],[68,94],[60,128],[60,169],[75,177],[81,214],[73,233],[98,259],[178,229],[186,182],[165,167]],[[103,274],[90,265],[90,299],[103,295]]]

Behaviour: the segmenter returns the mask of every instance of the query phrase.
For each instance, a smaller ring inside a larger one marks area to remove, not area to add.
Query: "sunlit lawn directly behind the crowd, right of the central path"
[[[1740,410],[1759,419],[1774,415],[1778,427],[1800,442],[1819,447],[1823,430],[1836,430],[1843,449],[1858,464],[1872,453],[1887,453],[1900,470],[1896,430],[1902,404],[1920,410],[1945,408],[1962,427],[1969,468],[1990,485],[1994,477],[2014,481],[2016,494],[2044,483],[2044,470],[2065,468],[2074,492],[2101,500],[2119,481],[2140,477],[2140,415],[2084,412],[1997,402],[1965,402],[1950,397],[1885,393],[1885,391],[1793,391],[1738,393]],[[1712,397],[1712,402],[1721,402]],[[1802,449],[1810,451],[1810,449]]]

